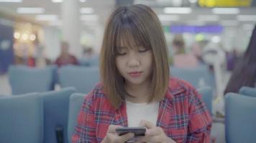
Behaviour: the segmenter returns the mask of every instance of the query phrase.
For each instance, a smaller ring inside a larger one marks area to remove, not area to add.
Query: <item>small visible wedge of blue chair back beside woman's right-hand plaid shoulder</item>
[[[213,89],[211,87],[200,87],[197,89],[197,91],[199,94],[201,94],[202,99],[206,103],[206,107],[209,109],[209,112],[212,113]]]

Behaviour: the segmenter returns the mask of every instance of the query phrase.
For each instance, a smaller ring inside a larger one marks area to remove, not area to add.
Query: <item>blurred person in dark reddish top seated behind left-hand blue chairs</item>
[[[55,61],[55,64],[57,64],[58,66],[63,66],[66,64],[78,64],[78,61],[76,59],[75,56],[73,56],[72,54],[69,54],[68,49],[69,49],[69,44],[66,41],[62,41],[60,44],[60,56],[58,56],[58,58]]]

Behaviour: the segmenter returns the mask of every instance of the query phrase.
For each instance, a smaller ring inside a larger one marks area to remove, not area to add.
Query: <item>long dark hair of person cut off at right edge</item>
[[[239,92],[241,87],[255,87],[256,83],[256,25],[252,31],[252,36],[247,50],[242,59],[235,66],[229,83],[224,91]]]

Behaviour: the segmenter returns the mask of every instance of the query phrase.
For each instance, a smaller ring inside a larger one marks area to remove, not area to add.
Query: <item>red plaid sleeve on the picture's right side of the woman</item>
[[[211,115],[196,89],[193,89],[189,96],[189,112],[187,143],[209,143],[211,141]]]

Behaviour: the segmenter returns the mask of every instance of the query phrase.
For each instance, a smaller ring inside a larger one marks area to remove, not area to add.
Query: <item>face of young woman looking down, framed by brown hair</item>
[[[116,50],[116,67],[127,85],[141,85],[150,82],[152,73],[152,50],[133,44],[121,44]]]

